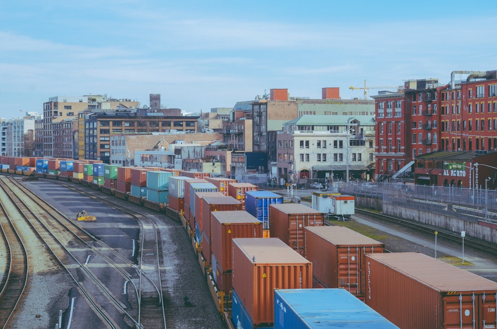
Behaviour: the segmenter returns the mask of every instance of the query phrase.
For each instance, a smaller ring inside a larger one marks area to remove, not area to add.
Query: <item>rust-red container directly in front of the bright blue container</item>
[[[304,227],[323,226],[324,214],[300,203],[269,205],[269,235],[304,254]]]

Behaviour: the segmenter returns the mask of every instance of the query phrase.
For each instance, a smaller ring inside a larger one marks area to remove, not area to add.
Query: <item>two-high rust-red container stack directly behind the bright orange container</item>
[[[212,275],[227,296],[232,288],[232,240],[236,238],[262,238],[262,223],[245,211],[212,212]]]

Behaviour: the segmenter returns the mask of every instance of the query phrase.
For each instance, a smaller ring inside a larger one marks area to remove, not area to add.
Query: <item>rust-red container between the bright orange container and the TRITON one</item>
[[[385,245],[343,226],[304,228],[304,257],[314,279],[326,288],[344,288],[364,299],[365,253],[383,253]]]

